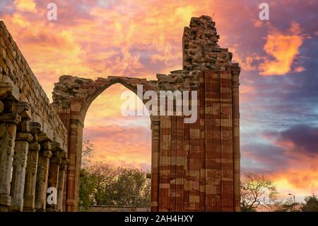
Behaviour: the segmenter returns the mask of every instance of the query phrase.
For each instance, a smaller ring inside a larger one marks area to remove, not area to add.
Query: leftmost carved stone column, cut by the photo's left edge
[[[11,205],[10,181],[11,166],[16,139],[16,126],[20,122],[16,113],[1,113],[0,115],[0,211],[8,211]]]

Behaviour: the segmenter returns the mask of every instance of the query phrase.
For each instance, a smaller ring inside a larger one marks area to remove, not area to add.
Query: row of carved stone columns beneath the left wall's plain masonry
[[[61,211],[66,151],[29,113],[27,102],[0,100],[0,211]]]

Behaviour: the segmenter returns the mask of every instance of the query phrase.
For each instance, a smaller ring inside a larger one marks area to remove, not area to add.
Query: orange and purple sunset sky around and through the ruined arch
[[[57,21],[47,4],[57,4]],[[259,4],[270,6],[259,20]],[[242,172],[271,176],[283,198],[318,193],[318,1],[1,0],[0,18],[52,100],[63,74],[155,79],[182,68],[192,16],[213,16],[239,62]],[[119,84],[90,106],[94,161],[151,167],[147,116],[124,117]]]

